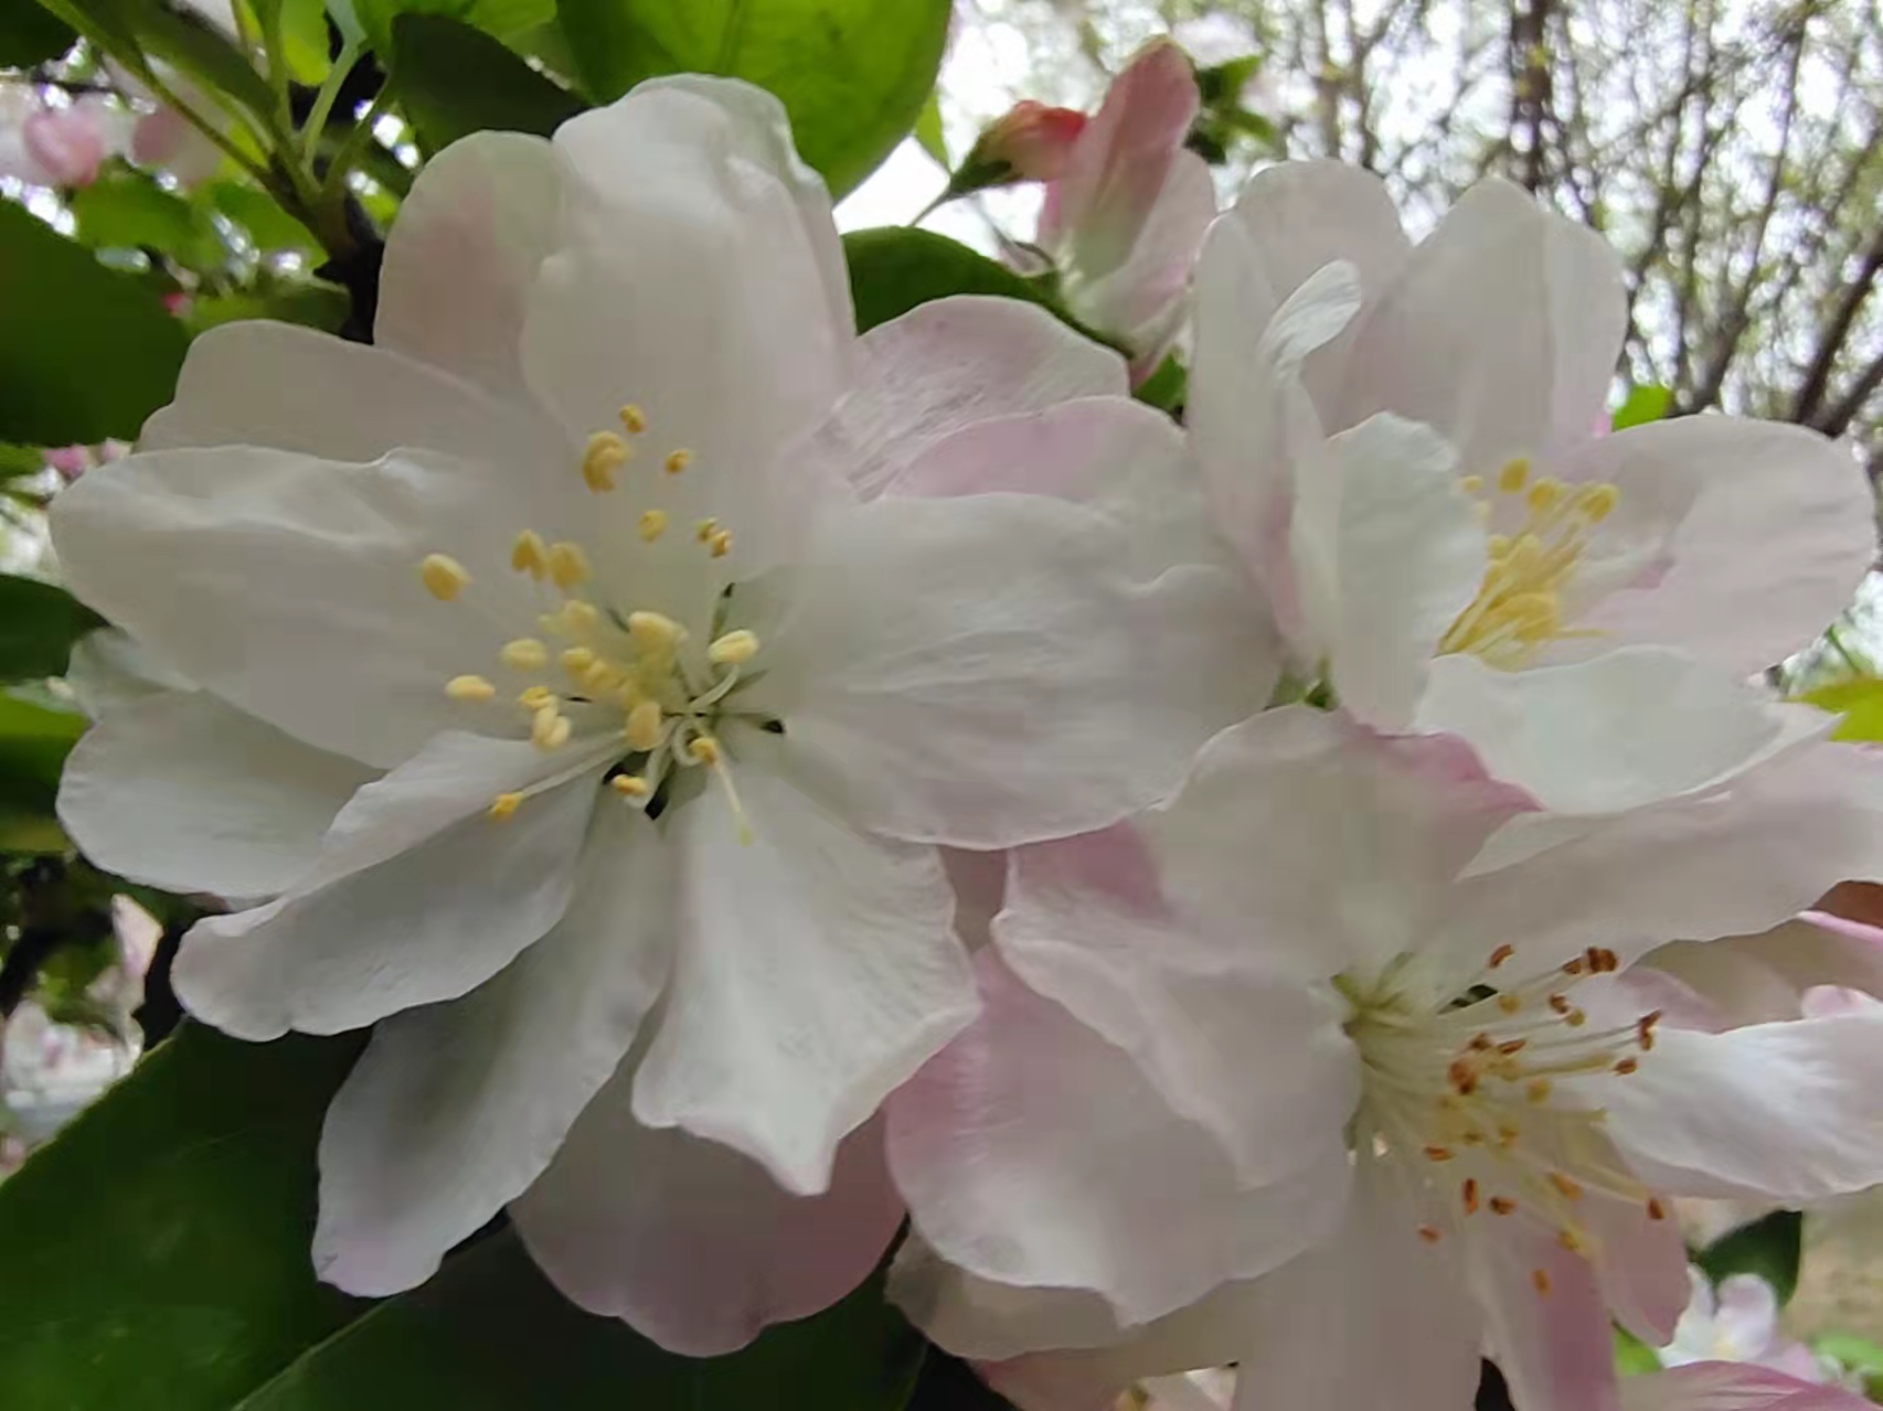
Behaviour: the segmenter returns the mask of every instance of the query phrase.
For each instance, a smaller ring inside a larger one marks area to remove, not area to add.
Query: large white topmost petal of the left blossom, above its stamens
[[[830,410],[849,293],[829,207],[787,152],[776,100],[697,77],[557,130],[563,241],[529,299],[523,373],[572,436],[633,403],[652,444],[757,493]]]

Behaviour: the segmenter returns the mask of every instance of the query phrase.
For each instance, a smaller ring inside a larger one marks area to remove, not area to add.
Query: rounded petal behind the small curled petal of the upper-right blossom
[[[1397,278],[1412,243],[1399,228],[1392,196],[1371,171],[1346,162],[1279,162],[1248,179],[1230,216],[1248,239],[1262,273],[1233,316],[1260,327],[1282,299],[1333,260],[1354,267],[1361,299],[1371,303]],[[1262,292],[1265,290],[1265,297]],[[1228,310],[1224,310],[1228,316]],[[1303,380],[1322,416],[1339,410],[1339,389],[1352,333],[1314,352]]]

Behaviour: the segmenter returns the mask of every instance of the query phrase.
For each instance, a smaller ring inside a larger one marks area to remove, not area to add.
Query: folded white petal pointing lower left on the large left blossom
[[[508,965],[563,914],[595,805],[593,773],[527,798],[527,743],[441,736],[362,788],[296,890],[185,937],[185,1007],[239,1038],[335,1033],[456,999]]]

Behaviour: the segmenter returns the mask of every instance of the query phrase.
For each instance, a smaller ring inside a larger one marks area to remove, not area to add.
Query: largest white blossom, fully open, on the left
[[[198,1018],[377,1023],[322,1136],[330,1281],[418,1283],[508,1204],[580,1304],[723,1351],[896,1227],[868,1119],[979,1005],[938,845],[1166,796],[1273,653],[1103,497],[936,491],[1122,446],[1175,476],[1183,440],[1032,307],[857,339],[746,85],[441,152],[375,333],[203,335],[56,500],[75,593],[171,674],[105,692],[62,818],[250,903],[183,944]]]

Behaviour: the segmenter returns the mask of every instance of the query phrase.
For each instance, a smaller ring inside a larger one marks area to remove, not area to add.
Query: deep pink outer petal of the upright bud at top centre
[[[1198,103],[1184,53],[1169,41],[1147,45],[1079,134],[1039,216],[1038,243],[1094,277],[1122,265],[1183,151]]]

